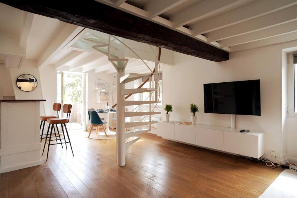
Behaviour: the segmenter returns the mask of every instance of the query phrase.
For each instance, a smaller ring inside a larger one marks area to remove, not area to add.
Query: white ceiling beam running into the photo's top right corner
[[[260,0],[233,9],[190,26],[193,35],[205,34],[220,28],[254,19],[297,4],[296,0]]]

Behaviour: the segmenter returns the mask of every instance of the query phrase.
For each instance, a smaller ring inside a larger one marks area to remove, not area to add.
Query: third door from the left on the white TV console
[[[196,128],[196,145],[223,150],[223,131]]]

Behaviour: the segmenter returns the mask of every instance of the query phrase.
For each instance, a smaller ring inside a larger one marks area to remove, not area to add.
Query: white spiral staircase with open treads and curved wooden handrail
[[[158,77],[158,66],[160,59],[160,48],[155,48],[153,50],[156,59],[155,59],[155,68],[152,71],[149,66],[146,64],[143,59],[141,59],[138,54],[136,54],[130,47],[128,47],[124,43],[124,39],[115,37],[113,35],[108,35],[102,32],[98,32],[98,34],[89,33],[86,34],[82,39],[87,42],[91,42],[94,45],[92,48],[94,50],[99,51],[100,53],[108,56],[108,60],[114,66],[117,71],[117,104],[114,104],[113,107],[117,108],[117,121],[116,121],[116,130],[117,130],[117,161],[119,166],[125,165],[125,151],[126,149],[132,145],[134,142],[140,139],[138,135],[151,131],[151,125],[157,123],[157,121],[153,121],[151,119],[151,115],[160,114],[161,112],[154,111],[154,108],[157,106],[158,88],[159,86],[159,77]],[[143,61],[143,63],[148,67],[151,72],[151,75],[146,79],[145,82],[149,82],[149,88],[143,88],[143,84],[138,88],[133,89],[125,89],[125,84],[132,82],[134,80],[138,80],[140,78],[146,77],[145,74],[137,74],[137,73],[128,73],[125,74],[125,68],[129,63],[129,59],[125,58],[125,50],[131,50],[135,55]],[[160,66],[159,66],[160,68]],[[153,83],[154,81],[154,83]],[[133,101],[126,100],[132,94],[149,92],[149,100],[142,101]],[[154,94],[153,94],[154,93]],[[154,97],[153,97],[154,95]],[[149,111],[134,111],[140,105],[149,104]],[[136,106],[132,111],[125,111],[126,106]],[[154,106],[154,107],[153,107]],[[125,122],[126,117],[143,117],[139,121]],[[149,126],[139,128],[141,126]],[[136,128],[135,128],[136,127]],[[132,130],[125,130],[125,129]]]

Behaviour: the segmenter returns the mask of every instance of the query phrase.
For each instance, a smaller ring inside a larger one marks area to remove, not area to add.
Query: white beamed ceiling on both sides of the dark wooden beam
[[[297,39],[297,0],[97,1],[113,4],[118,9],[231,52]],[[96,44],[82,39],[87,34],[99,32],[40,15],[32,17],[1,3],[0,13],[0,44],[11,43],[17,50],[16,45],[26,38],[26,64],[40,68],[51,64],[57,70],[78,72],[115,71],[106,56],[92,48]],[[29,33],[24,36],[26,32]],[[126,41],[147,63],[154,61],[148,45]],[[174,57],[169,51],[162,51],[161,60],[172,65]],[[0,62],[4,62],[6,56],[0,57]],[[146,67],[129,50],[126,57],[131,59],[127,66],[129,71]],[[136,59],[132,61],[133,58]]]

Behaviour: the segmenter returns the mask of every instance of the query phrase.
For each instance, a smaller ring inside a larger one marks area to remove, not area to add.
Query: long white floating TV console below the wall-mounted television
[[[265,132],[210,126],[184,125],[179,121],[159,121],[158,136],[164,139],[259,158],[265,153]]]

